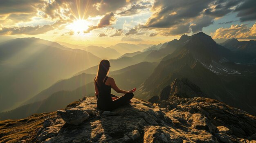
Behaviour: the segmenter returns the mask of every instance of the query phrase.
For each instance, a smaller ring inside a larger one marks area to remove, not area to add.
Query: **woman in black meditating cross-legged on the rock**
[[[97,107],[105,111],[114,110],[120,106],[130,103],[129,101],[133,97],[132,92],[135,92],[136,90],[136,88],[133,88],[130,91],[119,89],[115,84],[115,80],[112,77],[107,76],[109,68],[109,61],[107,59],[102,59],[99,63],[97,76],[94,79],[95,95],[98,95]],[[112,95],[111,88],[118,93],[125,93],[125,95],[121,97]]]

